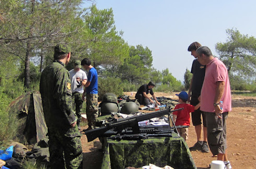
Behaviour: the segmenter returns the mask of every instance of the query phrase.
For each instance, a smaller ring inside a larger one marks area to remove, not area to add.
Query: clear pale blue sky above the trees
[[[181,82],[194,59],[188,51],[192,42],[208,46],[217,56],[215,44],[226,42],[227,29],[256,37],[255,0],[96,0],[95,4],[98,9],[112,8],[124,40],[147,46],[152,50],[153,67],[168,68]]]

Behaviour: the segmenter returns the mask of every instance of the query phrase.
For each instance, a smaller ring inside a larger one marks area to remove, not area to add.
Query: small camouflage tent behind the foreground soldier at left
[[[17,116],[18,129],[15,141],[32,145],[46,138],[48,130],[39,92],[27,92],[16,98],[9,105],[9,113]]]

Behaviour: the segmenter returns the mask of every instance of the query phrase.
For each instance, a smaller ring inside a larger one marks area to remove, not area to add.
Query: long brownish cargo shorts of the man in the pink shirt
[[[218,118],[214,112],[205,112],[207,140],[213,155],[217,155],[219,153],[225,154],[225,150],[227,149],[227,117],[228,112],[222,113],[222,119]]]

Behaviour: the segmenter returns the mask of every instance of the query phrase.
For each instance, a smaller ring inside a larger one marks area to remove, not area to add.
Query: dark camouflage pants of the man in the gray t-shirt
[[[83,108],[83,100],[82,100],[82,93],[78,93],[78,92],[75,92],[75,93],[72,93],[72,107],[74,109],[74,111],[76,111],[76,115],[77,115],[77,126],[79,127],[80,126],[80,123],[81,123],[81,119],[82,119],[82,116],[81,116],[81,111],[82,111],[82,108]]]

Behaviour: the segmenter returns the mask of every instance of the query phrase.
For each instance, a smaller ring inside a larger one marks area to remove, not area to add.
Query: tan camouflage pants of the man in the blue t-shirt
[[[89,127],[95,127],[95,119],[99,116],[98,94],[86,94],[86,116]]]

